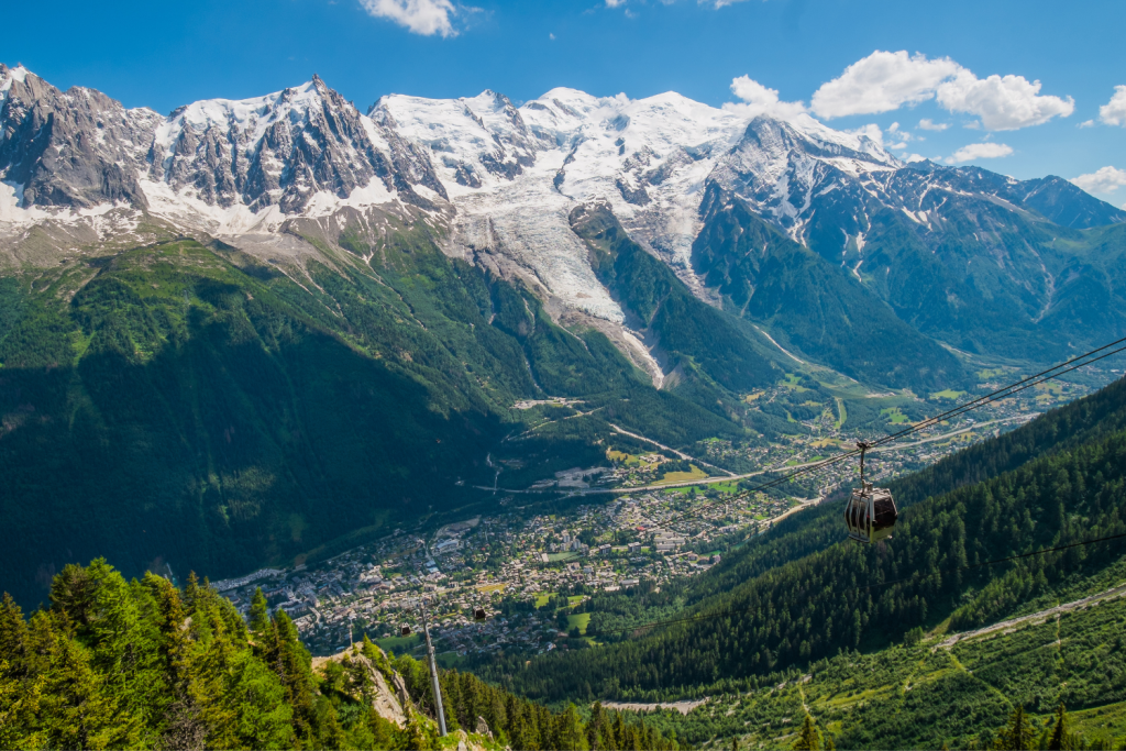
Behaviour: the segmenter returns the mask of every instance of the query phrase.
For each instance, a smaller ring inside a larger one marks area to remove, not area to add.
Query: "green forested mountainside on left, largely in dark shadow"
[[[354,252],[294,278],[187,239],[0,278],[8,590],[35,604],[102,554],[127,574],[233,575],[463,508],[519,432],[518,399],[581,396],[671,445],[742,430],[425,229],[341,241]],[[593,441],[508,448],[534,479],[604,461]]]

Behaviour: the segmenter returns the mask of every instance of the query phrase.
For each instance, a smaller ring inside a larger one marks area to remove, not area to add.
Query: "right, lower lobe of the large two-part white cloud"
[[[938,87],[938,104],[951,113],[977,115],[989,131],[1016,131],[1075,111],[1071,97],[1040,96],[1040,82],[1024,75],[978,79],[963,69]]]

